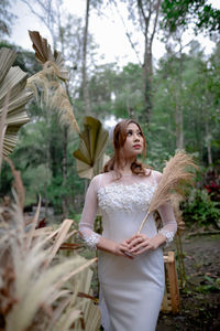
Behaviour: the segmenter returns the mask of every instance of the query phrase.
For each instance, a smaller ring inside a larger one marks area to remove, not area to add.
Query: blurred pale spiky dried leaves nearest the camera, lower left
[[[14,222],[18,215],[22,217],[19,205],[13,207],[13,215]],[[74,276],[76,277],[78,273],[84,271],[92,264],[92,261],[86,261],[84,258],[75,256],[67,261],[56,263],[53,267],[42,268],[51,256],[51,249],[45,250],[42,244],[45,243],[45,239],[38,237],[37,241],[32,241],[32,246],[29,250],[23,249],[25,246],[24,221],[19,221],[15,224],[16,232],[14,236],[11,236],[10,233],[8,241],[11,243],[12,248],[11,253],[14,267],[13,300],[16,298],[16,301],[13,302],[11,311],[6,317],[7,331],[23,331],[30,327],[40,307],[47,305],[47,302],[50,302],[50,305],[53,303],[53,300],[61,297],[59,291],[66,280]],[[63,228],[59,233],[59,238],[63,236],[64,239],[66,239],[65,235],[63,235],[64,231],[66,231],[66,228]],[[78,277],[79,281],[80,279],[82,279],[82,277]],[[78,288],[79,286],[72,288],[72,290],[74,290],[74,296],[72,293],[72,299],[75,300],[74,302],[76,302]],[[87,288],[82,288],[87,290]],[[75,309],[72,309],[72,312],[73,311],[75,311],[75,314],[69,314],[69,323],[70,320],[73,323],[77,318],[81,317],[81,310],[77,309],[76,305]],[[68,328],[62,328],[59,330],[68,330]]]

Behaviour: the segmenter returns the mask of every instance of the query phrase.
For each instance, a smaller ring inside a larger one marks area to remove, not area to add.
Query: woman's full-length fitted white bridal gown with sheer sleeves
[[[120,243],[134,235],[161,179],[161,173],[150,175],[122,175],[117,179],[110,171],[95,177],[88,188],[79,231],[90,247],[100,235],[94,232],[97,210],[102,215],[102,237]],[[158,209],[166,243],[176,232],[176,221],[170,205]],[[142,233],[154,237],[157,228],[150,214]],[[164,295],[163,248],[145,252],[129,259],[99,250],[100,310],[105,331],[153,331]]]

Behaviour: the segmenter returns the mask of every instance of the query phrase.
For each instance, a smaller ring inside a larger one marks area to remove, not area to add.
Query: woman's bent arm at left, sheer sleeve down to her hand
[[[103,238],[101,235],[94,232],[94,222],[97,215],[98,200],[97,191],[99,188],[100,175],[95,177],[87,190],[81,220],[79,222],[79,234],[91,248],[98,248],[109,252],[114,255],[129,257],[124,252],[128,250],[129,245],[125,242],[120,244]],[[131,258],[131,257],[129,257]]]

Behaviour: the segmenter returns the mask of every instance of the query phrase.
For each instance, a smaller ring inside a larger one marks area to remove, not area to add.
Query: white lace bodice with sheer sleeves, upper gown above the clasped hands
[[[138,232],[160,179],[161,173],[153,170],[146,177],[131,174],[117,179],[114,171],[95,177],[88,188],[79,223],[79,231],[86,243],[96,247],[99,242],[100,235],[94,232],[98,207],[100,207],[103,216],[103,229],[106,228],[107,234],[113,232],[117,237],[117,233],[123,229],[128,231],[128,226],[130,226],[131,235]],[[173,209],[170,205],[163,205],[158,212],[163,222],[163,228],[160,232],[165,235],[166,242],[169,243],[177,227]],[[128,218],[130,224],[128,224]],[[151,222],[153,222],[154,229],[153,216]],[[152,228],[150,227],[148,231],[151,232]],[[103,232],[103,234],[106,233]]]

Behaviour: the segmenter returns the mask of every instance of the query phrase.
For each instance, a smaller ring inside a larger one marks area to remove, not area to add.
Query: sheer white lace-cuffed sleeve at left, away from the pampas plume
[[[97,214],[97,190],[100,181],[100,175],[95,177],[87,190],[85,205],[81,213],[81,220],[79,222],[79,234],[91,248],[96,248],[99,242],[100,235],[94,232],[94,222]]]

